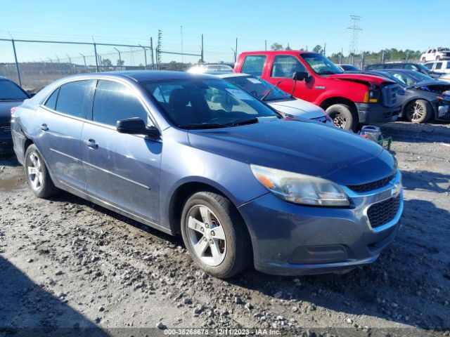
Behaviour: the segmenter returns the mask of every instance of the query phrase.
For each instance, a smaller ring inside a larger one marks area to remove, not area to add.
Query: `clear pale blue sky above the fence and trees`
[[[200,53],[204,35],[205,60],[233,60],[238,53],[264,50],[277,42],[293,49],[326,44],[326,53],[347,54],[352,25],[360,15],[360,51],[384,48],[423,51],[450,46],[449,0],[160,0],[61,1],[1,0],[0,38],[93,41],[149,45],[162,30],[162,50]],[[442,8],[442,10],[439,10]],[[440,23],[439,23],[440,22]],[[156,43],[156,42],[155,42]],[[91,46],[53,44],[16,45],[19,61],[68,60],[81,62],[94,54]],[[115,59],[113,47],[101,47],[103,58]],[[127,63],[143,62],[143,50],[118,48]],[[11,43],[0,41],[0,62],[13,58]],[[196,62],[197,56],[163,55],[164,62]],[[95,61],[94,61],[95,62]]]

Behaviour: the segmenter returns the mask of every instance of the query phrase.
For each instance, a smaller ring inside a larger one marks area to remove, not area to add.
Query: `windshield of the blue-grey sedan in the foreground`
[[[257,123],[281,115],[252,95],[222,79],[145,81],[167,118],[180,128],[223,128]]]

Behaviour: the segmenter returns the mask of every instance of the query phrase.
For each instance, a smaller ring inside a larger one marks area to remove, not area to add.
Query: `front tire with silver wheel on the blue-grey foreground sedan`
[[[196,192],[181,214],[181,234],[191,258],[208,274],[232,277],[252,262],[250,237],[231,201],[213,192]]]

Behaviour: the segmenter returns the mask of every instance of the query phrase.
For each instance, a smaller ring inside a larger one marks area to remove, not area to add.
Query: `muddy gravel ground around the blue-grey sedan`
[[[346,275],[214,279],[181,239],[70,194],[37,199],[17,161],[1,160],[0,336],[34,327],[162,336],[158,324],[165,333],[450,336],[450,125],[383,131],[404,173],[402,227],[376,263]]]

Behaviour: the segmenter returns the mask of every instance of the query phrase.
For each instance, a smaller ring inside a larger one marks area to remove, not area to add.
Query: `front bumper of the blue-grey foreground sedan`
[[[255,268],[276,275],[307,275],[373,263],[399,227],[401,173],[371,192],[343,188],[352,204],[347,209],[290,204],[271,193],[240,206],[252,237]],[[394,218],[372,228],[368,208],[394,196],[400,198]]]

